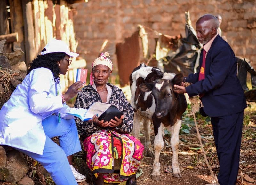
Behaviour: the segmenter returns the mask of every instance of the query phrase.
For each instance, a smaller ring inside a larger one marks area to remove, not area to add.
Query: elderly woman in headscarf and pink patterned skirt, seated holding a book
[[[78,133],[84,144],[86,163],[97,178],[96,184],[136,184],[144,146],[129,135],[133,127],[133,108],[121,89],[108,83],[112,62],[108,52],[101,53],[92,64],[90,84],[77,94],[75,107],[88,109],[94,102],[115,105],[123,115],[109,122],[99,121],[96,116],[89,121],[76,119]],[[120,171],[114,171],[114,162],[121,160]]]

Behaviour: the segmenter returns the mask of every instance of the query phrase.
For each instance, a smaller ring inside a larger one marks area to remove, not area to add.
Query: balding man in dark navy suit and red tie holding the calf
[[[188,87],[174,85],[174,92],[199,95],[203,103],[200,113],[211,117],[213,136],[220,164],[218,181],[235,185],[240,157],[244,109],[247,107],[237,73],[236,57],[226,41],[217,33],[219,21],[204,15],[196,22],[196,33],[203,49],[199,73],[190,74]]]

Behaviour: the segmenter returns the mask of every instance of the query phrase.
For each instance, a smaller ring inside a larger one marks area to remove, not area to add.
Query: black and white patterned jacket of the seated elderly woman
[[[120,133],[129,133],[132,131],[133,127],[133,108],[121,89],[113,84],[107,84],[112,88],[109,103],[115,105],[117,109],[124,114],[122,126],[114,129]],[[89,84],[85,86],[82,91],[78,92],[74,107],[88,109],[94,102],[102,102],[102,100],[99,93]],[[95,123],[81,121],[80,119],[76,119],[76,126],[82,140],[98,130],[105,129],[98,127]]]

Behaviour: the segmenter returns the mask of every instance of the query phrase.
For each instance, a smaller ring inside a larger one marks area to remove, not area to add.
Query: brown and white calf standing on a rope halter
[[[143,122],[145,132],[145,149],[147,156],[153,157],[150,142],[150,122],[153,122],[155,139],[155,159],[151,178],[160,179],[159,156],[163,149],[163,127],[171,133],[172,165],[169,170],[174,177],[181,177],[178,162],[179,130],[182,114],[187,108],[184,94],[173,92],[173,85],[180,84],[183,74],[162,73],[158,68],[141,64],[130,75],[131,104],[134,108],[133,134],[139,137],[140,120]]]

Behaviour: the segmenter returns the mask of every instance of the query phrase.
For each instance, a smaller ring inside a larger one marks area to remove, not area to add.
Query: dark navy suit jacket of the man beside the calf
[[[202,54],[199,62],[200,67],[201,65]],[[198,81],[199,73],[189,74],[184,81],[193,84],[186,87],[186,92],[189,96],[204,93],[201,100],[203,110],[208,116],[218,117],[241,112],[247,105],[236,74],[235,54],[218,35],[206,55],[205,79]]]

